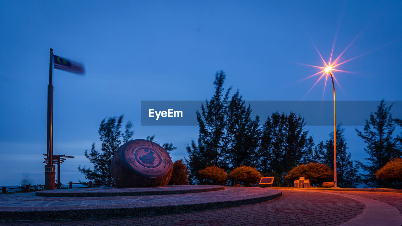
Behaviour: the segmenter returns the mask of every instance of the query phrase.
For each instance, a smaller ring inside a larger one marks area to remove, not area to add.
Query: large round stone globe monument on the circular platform
[[[156,187],[168,184],[172,165],[162,146],[138,139],[120,146],[112,158],[110,171],[117,187]]]

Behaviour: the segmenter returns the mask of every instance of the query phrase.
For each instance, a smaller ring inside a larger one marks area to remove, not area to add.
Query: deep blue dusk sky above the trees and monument
[[[331,101],[324,80],[303,99],[318,77],[297,81],[318,70],[297,63],[321,66],[312,41],[328,60],[337,30],[336,56],[357,37],[340,60],[368,54],[339,67],[357,74],[334,72],[336,99],[402,101],[401,12],[401,1],[1,1],[0,185],[44,183],[49,48],[86,70],[53,72],[54,154],[76,156],[62,164],[62,183],[76,183],[105,117],[124,114],[135,139],[156,134],[186,157],[198,127],[141,126],[140,101],[210,99],[218,70],[247,101]],[[363,161],[355,128],[348,152]],[[332,127],[306,129],[318,142]]]

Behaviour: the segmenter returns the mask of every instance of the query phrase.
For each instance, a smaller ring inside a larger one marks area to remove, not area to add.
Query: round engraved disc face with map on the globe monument
[[[148,140],[135,141],[123,152],[131,169],[146,177],[159,177],[169,171],[172,160],[160,145]]]

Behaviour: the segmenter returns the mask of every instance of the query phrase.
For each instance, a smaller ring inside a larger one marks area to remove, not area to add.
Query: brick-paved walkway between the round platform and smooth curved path
[[[365,205],[346,197],[295,190],[282,190],[283,195],[263,203],[239,207],[160,216],[64,220],[48,222],[3,222],[2,225],[316,225],[332,226],[347,222],[359,214]]]

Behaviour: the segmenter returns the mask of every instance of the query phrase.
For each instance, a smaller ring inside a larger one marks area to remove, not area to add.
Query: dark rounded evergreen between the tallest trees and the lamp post
[[[283,181],[283,177],[293,167],[301,163],[306,148],[307,134],[304,119],[295,113],[272,113],[263,126],[261,136],[260,171],[273,171]]]

